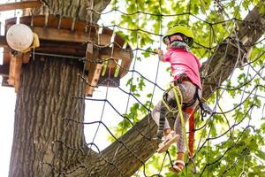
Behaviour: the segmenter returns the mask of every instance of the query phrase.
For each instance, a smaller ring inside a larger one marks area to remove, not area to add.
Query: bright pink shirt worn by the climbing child
[[[170,62],[171,73],[175,81],[178,80],[181,73],[186,73],[193,84],[197,85],[200,89],[202,88],[199,73],[201,64],[193,53],[182,49],[170,49],[164,54],[163,61]]]

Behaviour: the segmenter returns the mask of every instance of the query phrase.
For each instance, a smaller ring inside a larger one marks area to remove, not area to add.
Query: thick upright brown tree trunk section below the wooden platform
[[[10,176],[42,176],[50,168],[61,169],[79,157],[57,141],[84,146],[82,121],[84,83],[82,65],[62,58],[36,58],[23,67],[17,95]],[[45,172],[45,169],[48,169]],[[49,175],[50,176],[50,175]]]

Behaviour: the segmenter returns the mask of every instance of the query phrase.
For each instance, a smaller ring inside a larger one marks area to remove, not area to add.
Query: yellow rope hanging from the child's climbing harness
[[[181,122],[182,130],[183,130],[184,142],[186,144],[186,150],[189,152],[188,142],[187,142],[187,137],[186,137],[186,126],[185,126],[183,112],[182,112],[182,104],[183,104],[182,93],[181,93],[181,90],[179,89],[178,86],[174,86],[171,84],[170,89],[173,89],[173,93],[174,93],[174,96],[175,96],[175,99],[177,102],[178,113],[179,113],[180,122]],[[166,92],[169,92],[170,89],[167,89]],[[170,109],[170,105],[167,103],[166,100],[162,99],[162,101],[163,101],[163,104],[165,105],[165,107],[168,109],[169,112],[172,112],[172,113],[177,112],[177,111],[174,111],[173,109]]]

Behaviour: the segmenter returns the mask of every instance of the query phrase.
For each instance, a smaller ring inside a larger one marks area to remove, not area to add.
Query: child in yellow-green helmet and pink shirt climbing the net
[[[156,50],[159,59],[164,62],[170,62],[171,73],[174,76],[174,85],[179,88],[183,97],[183,118],[186,124],[194,112],[197,102],[196,96],[201,96],[201,79],[199,68],[201,64],[193,53],[190,52],[189,46],[193,44],[193,32],[188,27],[181,25],[171,27],[163,37],[163,43],[167,45],[167,52],[163,55],[163,50]],[[176,103],[173,89],[170,89],[165,101],[171,104]],[[175,131],[171,131],[168,120],[165,118],[168,112],[166,105],[160,101],[152,112],[155,123],[159,126],[157,137],[162,138],[163,142],[159,144],[158,152],[161,153],[168,150],[170,144],[177,142],[178,156],[177,160],[170,167],[170,170],[179,173],[183,170],[185,140],[180,115],[178,113],[175,120]],[[163,137],[162,137],[163,136]]]

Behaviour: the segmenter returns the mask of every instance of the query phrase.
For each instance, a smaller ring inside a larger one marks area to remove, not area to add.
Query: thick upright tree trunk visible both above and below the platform
[[[87,8],[102,12],[110,0],[43,0],[42,3],[48,6],[49,13],[96,23],[99,14]],[[102,157],[87,148],[82,124],[69,121],[82,122],[84,119],[84,99],[72,97],[84,97],[85,84],[79,77],[82,73],[81,62],[64,58],[35,56],[34,61],[23,66],[9,176],[86,176],[90,171],[97,173],[92,170],[93,165],[104,163]]]

